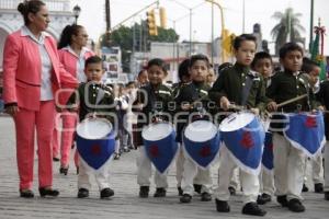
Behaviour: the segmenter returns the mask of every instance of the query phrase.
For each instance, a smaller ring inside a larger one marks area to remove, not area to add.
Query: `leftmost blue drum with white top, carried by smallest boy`
[[[112,124],[105,118],[87,118],[77,126],[77,150],[93,170],[99,170],[111,158],[115,147]]]

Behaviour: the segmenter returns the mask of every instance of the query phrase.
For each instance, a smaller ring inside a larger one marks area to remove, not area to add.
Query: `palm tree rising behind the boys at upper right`
[[[275,41],[275,54],[279,54],[280,48],[287,42],[302,42],[300,33],[305,28],[300,25],[300,13],[294,13],[292,8],[287,8],[284,13],[276,11],[272,18],[279,23],[272,28],[271,35]]]

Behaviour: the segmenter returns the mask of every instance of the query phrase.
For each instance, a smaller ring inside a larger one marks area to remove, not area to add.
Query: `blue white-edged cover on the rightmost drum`
[[[318,112],[286,115],[290,123],[284,135],[287,140],[308,157],[318,155],[326,143],[324,114]]]

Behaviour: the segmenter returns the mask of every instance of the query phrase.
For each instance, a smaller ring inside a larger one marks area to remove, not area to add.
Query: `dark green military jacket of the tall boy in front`
[[[250,84],[249,94],[243,92],[247,83]],[[246,103],[242,103],[243,95],[246,95]],[[260,111],[263,111],[270,102],[265,95],[263,77],[256,71],[251,71],[249,67],[243,67],[239,64],[225,69],[209,90],[211,100],[218,106],[222,96],[226,96],[237,105],[257,107]]]

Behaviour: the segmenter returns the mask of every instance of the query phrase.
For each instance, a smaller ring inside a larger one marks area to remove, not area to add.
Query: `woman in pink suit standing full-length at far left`
[[[42,197],[59,195],[53,188],[52,137],[55,92],[61,84],[77,87],[77,80],[63,68],[56,42],[44,31],[48,10],[39,0],[24,1],[18,10],[25,25],[10,34],[3,51],[3,100],[15,123],[20,196],[34,197],[32,191],[34,136],[38,155],[38,192]]]

